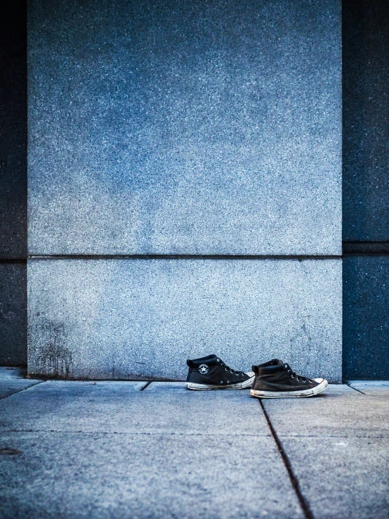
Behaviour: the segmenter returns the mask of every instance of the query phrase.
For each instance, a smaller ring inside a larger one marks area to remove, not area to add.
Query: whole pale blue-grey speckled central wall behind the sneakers
[[[29,9],[29,371],[341,380],[339,2]]]

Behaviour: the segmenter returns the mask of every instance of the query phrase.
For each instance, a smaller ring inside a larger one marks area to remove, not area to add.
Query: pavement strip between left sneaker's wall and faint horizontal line
[[[145,385],[51,380],[0,406],[0,428],[270,436],[249,390],[188,391],[183,383],[151,383],[141,391]]]

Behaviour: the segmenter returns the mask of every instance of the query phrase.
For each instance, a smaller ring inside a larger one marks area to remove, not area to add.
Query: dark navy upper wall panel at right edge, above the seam
[[[343,239],[389,241],[389,3],[342,6]]]

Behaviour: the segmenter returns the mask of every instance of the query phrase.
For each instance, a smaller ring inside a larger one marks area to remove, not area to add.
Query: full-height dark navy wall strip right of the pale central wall
[[[343,1],[345,378],[389,378],[389,5]]]

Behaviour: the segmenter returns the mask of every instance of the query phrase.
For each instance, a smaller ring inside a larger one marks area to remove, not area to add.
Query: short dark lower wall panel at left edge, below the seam
[[[26,262],[0,262],[0,365],[27,364]]]

